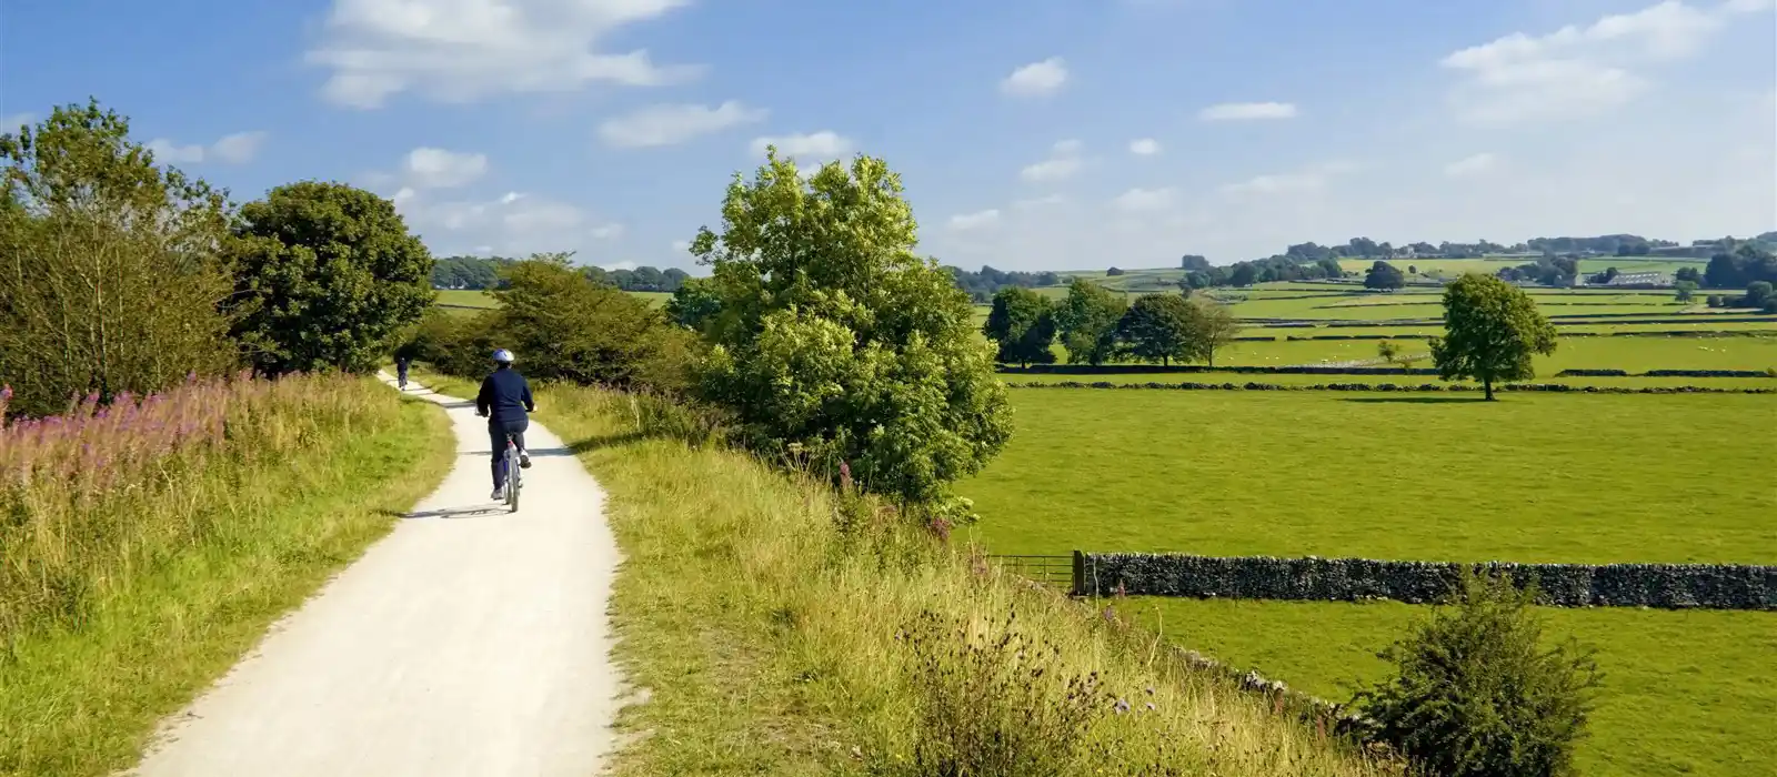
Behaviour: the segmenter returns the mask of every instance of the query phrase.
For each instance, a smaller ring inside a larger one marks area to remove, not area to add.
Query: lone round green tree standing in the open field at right
[[[1445,289],[1445,337],[1432,339],[1443,380],[1493,383],[1535,378],[1534,355],[1555,353],[1555,326],[1523,289],[1493,275],[1462,275]]]

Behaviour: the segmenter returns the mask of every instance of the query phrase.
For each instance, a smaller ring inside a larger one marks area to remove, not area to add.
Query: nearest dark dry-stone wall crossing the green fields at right
[[[1082,553],[1077,593],[1231,600],[1438,601],[1464,564],[1375,559],[1274,559],[1160,553]],[[1512,564],[1486,568],[1537,580],[1555,607],[1777,610],[1777,566],[1745,564]]]

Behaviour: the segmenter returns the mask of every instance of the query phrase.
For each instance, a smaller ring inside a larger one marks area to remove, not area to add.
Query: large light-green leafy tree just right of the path
[[[721,232],[691,243],[713,264],[723,314],[702,394],[771,456],[906,504],[942,504],[1011,436],[1006,388],[952,275],[917,257],[901,179],[881,160],[803,179],[768,149],[739,174]]]

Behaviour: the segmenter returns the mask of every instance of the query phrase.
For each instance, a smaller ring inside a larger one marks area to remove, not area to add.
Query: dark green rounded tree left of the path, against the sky
[[[261,373],[370,371],[432,303],[432,254],[375,193],[291,183],[240,216],[231,310]]]

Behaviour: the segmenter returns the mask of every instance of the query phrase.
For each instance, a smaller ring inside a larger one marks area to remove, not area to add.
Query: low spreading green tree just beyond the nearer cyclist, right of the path
[[[693,335],[670,326],[645,300],[594,284],[569,266],[565,254],[512,264],[505,280],[492,293],[499,307],[478,326],[494,334],[494,342],[478,342],[474,351],[482,365],[487,346],[494,346],[517,351],[531,378],[689,388]]]

